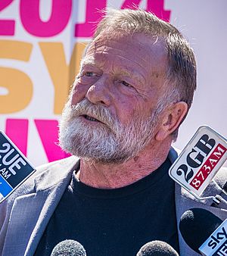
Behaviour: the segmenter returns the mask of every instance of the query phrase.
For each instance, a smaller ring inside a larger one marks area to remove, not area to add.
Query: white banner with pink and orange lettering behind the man
[[[203,124],[227,136],[226,0],[1,0],[0,130],[34,166],[67,156],[58,120],[98,10],[135,5],[179,28],[197,57],[194,104],[174,145]]]

